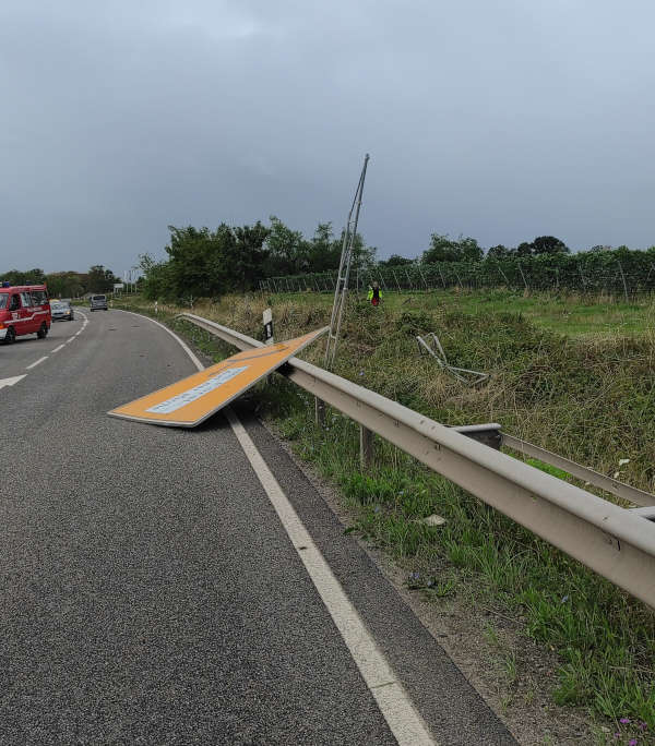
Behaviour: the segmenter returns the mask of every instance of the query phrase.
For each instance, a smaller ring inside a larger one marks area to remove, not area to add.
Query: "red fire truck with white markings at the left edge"
[[[11,345],[24,334],[36,334],[44,339],[51,322],[45,285],[0,284],[0,340],[5,345]]]

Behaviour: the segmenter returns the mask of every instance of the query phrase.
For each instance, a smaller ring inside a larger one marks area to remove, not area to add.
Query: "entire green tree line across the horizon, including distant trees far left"
[[[258,220],[254,225],[229,226],[222,222],[215,230],[206,227],[168,227],[170,238],[165,246],[165,258],[156,261],[151,254],[139,256],[141,277],[138,288],[150,299],[183,300],[193,298],[218,298],[226,292],[242,292],[258,289],[262,280],[279,277],[301,277],[330,273],[338,268],[344,231],[335,233],[331,222],[319,222],[313,236],[307,238],[299,230],[286,226],[276,216],[271,216],[269,225]],[[608,253],[609,252],[609,253]],[[638,272],[643,262],[628,257],[627,246],[612,250],[610,246],[593,246],[580,254],[603,254],[603,263],[621,266],[615,261],[623,256],[623,264]],[[632,253],[632,252],[629,252]],[[639,253],[639,252],[638,252]],[[485,250],[478,241],[468,236],[451,238],[448,234],[432,233],[428,248],[414,258],[392,254],[388,260],[377,261],[377,249],[366,243],[361,234],[355,237],[353,267],[354,274],[364,276],[373,268],[384,269],[414,265],[429,267],[437,265],[457,265],[461,275],[465,265],[480,267],[498,265],[503,273],[521,273],[525,262],[544,260],[557,268],[562,276],[572,272],[573,264],[560,263],[571,256],[570,249],[555,236],[538,236],[524,241],[515,248],[498,244]],[[505,263],[509,264],[505,267]],[[514,263],[517,262],[514,267]],[[648,266],[653,266],[650,264]],[[535,267],[547,266],[539,262]],[[594,266],[600,267],[598,262]],[[577,264],[575,264],[577,266]],[[603,264],[605,266],[605,264]],[[513,269],[512,269],[513,267]],[[565,267],[565,268],[564,268]],[[479,275],[479,270],[475,270]],[[500,272],[498,268],[495,272]],[[540,270],[539,270],[540,272]],[[580,275],[580,269],[576,269]],[[623,269],[621,269],[623,272]],[[559,275],[558,275],[559,276]],[[80,297],[86,292],[108,292],[117,281],[114,273],[103,265],[92,266],[87,273],[56,272],[45,274],[43,269],[4,273],[0,280],[12,285],[47,282],[53,297]]]

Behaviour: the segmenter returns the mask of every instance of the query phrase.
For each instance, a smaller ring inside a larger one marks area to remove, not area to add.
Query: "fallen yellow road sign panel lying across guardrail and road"
[[[327,327],[286,342],[245,350],[107,413],[138,422],[195,428],[326,330]]]

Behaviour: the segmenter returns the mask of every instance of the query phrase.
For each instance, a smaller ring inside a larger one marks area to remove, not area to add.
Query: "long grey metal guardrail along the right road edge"
[[[207,318],[191,313],[179,317],[241,350],[262,346]],[[650,509],[619,507],[297,358],[278,372],[655,607]]]

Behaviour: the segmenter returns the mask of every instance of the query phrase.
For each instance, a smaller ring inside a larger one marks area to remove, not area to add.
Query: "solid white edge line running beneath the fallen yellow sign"
[[[123,311],[123,313],[132,312]],[[142,316],[140,313],[133,313],[133,315]],[[154,318],[148,316],[142,316],[142,318],[147,318],[168,332],[191,358],[195,368],[199,371],[204,370],[201,361],[175,332]],[[250,435],[229,407],[226,407],[224,412],[398,746],[437,746],[437,742],[414,707],[405,687],[397,681],[384,653],[334,577],[330,565],[314,544]]]

